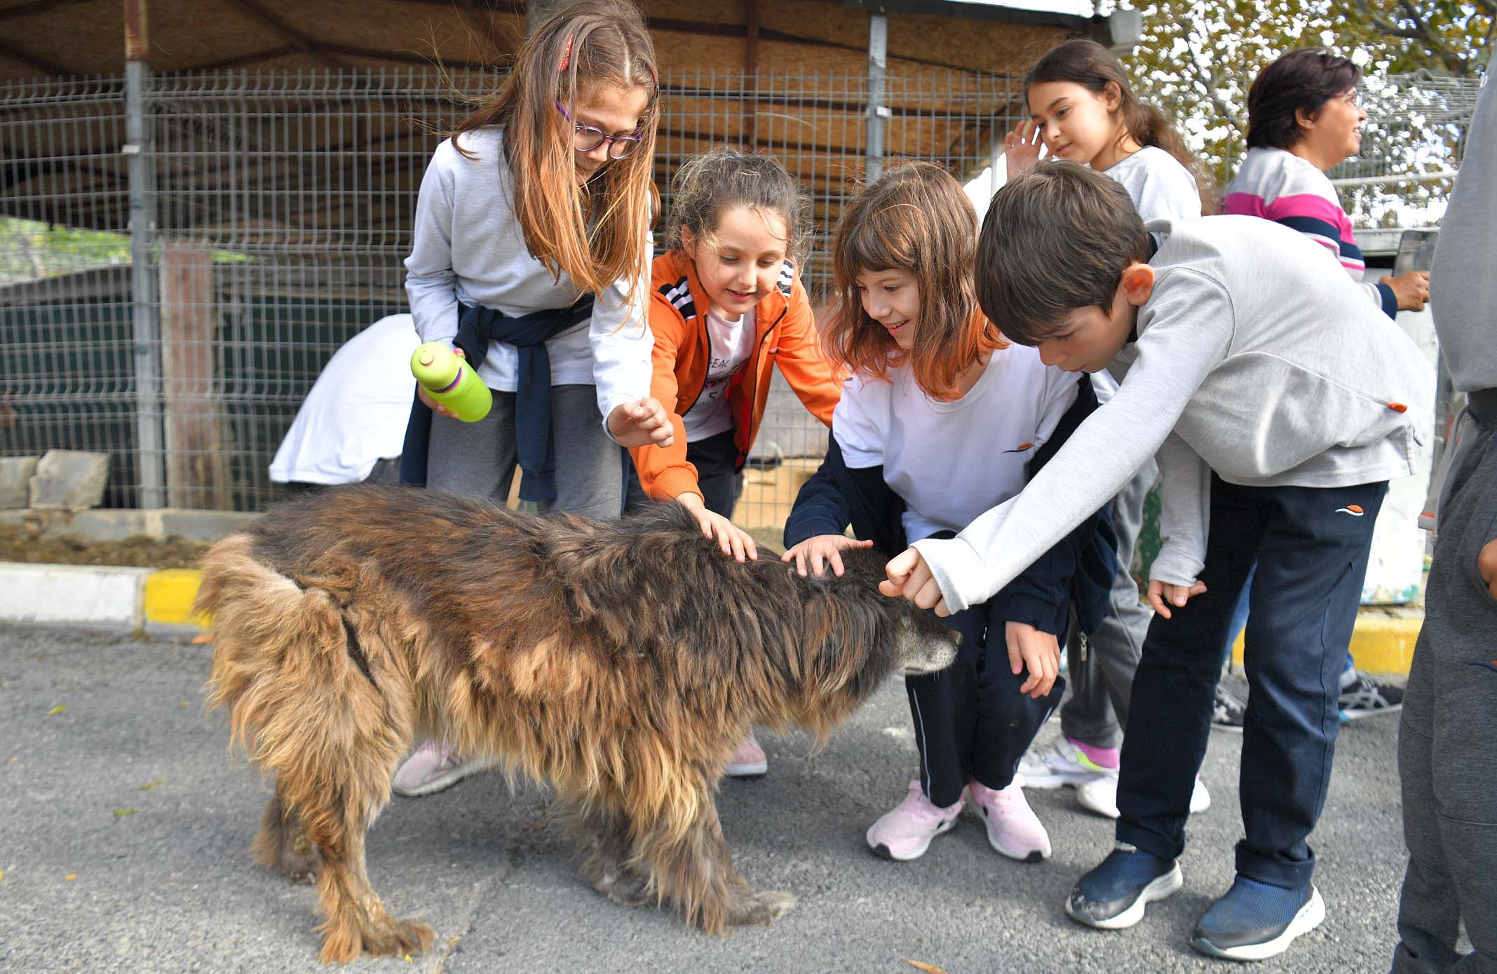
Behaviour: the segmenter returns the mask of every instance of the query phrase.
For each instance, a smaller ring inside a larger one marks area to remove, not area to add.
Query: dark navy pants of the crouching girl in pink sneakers
[[[906,676],[921,787],[940,808],[954,805],[969,781],[1003,788],[1019,759],[1066,691],[1066,679],[1040,699],[1019,693],[1028,669],[1009,670],[1006,621],[985,601],[942,619],[961,633],[957,661],[943,670]],[[1064,645],[1066,634],[1060,633]]]

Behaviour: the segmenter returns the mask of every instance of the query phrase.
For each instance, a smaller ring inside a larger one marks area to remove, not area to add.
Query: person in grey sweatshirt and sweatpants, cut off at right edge
[[[1466,411],[1431,485],[1439,537],[1398,777],[1409,871],[1395,974],[1497,971],[1497,85],[1476,102],[1434,248],[1434,331]],[[1443,485],[1439,482],[1443,479]],[[1431,525],[1434,527],[1434,525]],[[1475,950],[1455,953],[1461,920]]]

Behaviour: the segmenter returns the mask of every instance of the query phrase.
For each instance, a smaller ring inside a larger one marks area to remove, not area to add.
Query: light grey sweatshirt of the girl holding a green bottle
[[[422,341],[449,341],[458,332],[458,302],[485,305],[518,317],[564,308],[582,293],[566,274],[551,277],[525,248],[513,208],[513,177],[500,153],[499,129],[460,136],[466,159],[445,139],[427,166],[416,199],[415,239],[406,257],[406,293]],[[650,299],[650,251],[644,251],[635,302],[629,281],[615,281],[594,296],[591,322],[546,343],[551,385],[596,385],[597,408],[650,395],[654,337],[645,319]],[[519,356],[513,346],[493,343],[479,376],[490,389],[513,392]]]

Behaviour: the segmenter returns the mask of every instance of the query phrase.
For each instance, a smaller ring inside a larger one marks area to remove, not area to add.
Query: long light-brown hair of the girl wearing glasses
[[[644,88],[639,147],[578,186],[572,123],[555,103],[576,105],[579,90]],[[499,93],[479,103],[455,132],[503,126],[513,174],[515,217],[525,248],[554,275],[602,292],[620,278],[636,301],[650,262],[656,124],[660,72],[644,18],[621,0],[581,0],[552,13],[525,39]]]

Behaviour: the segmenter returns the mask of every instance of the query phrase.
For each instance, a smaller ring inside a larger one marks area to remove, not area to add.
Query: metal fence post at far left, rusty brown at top
[[[156,233],[153,132],[147,117],[151,88],[145,30],[147,0],[124,1],[124,147],[130,169],[130,296],[135,338],[135,456],[138,504],[165,507],[162,489],[160,322],[151,239]]]

